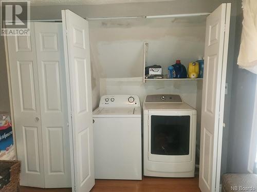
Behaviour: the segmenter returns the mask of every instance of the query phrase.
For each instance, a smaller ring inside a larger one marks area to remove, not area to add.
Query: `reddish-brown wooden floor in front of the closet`
[[[21,187],[21,192],[70,192],[70,188],[40,189]],[[198,178],[144,177],[142,181],[96,180],[91,192],[200,192]]]

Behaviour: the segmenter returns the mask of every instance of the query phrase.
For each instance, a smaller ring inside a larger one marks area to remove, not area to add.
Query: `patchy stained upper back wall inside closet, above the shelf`
[[[163,74],[176,59],[188,66],[204,55],[206,16],[89,21],[90,46],[100,78],[140,77],[143,42],[149,44],[148,66]]]

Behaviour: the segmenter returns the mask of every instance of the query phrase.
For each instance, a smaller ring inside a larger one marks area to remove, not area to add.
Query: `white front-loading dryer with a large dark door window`
[[[196,110],[179,95],[148,95],[143,103],[143,175],[194,177]]]

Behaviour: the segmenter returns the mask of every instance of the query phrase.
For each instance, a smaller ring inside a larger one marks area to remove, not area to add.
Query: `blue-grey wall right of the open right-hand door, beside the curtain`
[[[247,173],[257,75],[236,65],[240,48],[243,11],[237,5],[232,96],[229,121],[227,172]]]

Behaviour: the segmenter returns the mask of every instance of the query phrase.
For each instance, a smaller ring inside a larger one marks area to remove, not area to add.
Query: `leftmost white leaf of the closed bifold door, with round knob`
[[[30,36],[8,36],[8,53],[20,184],[45,187],[34,24]]]

